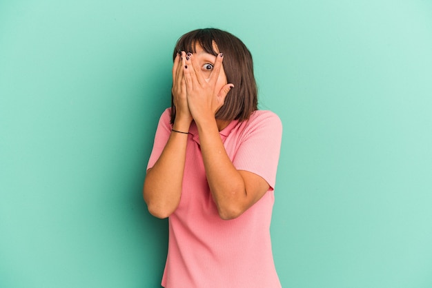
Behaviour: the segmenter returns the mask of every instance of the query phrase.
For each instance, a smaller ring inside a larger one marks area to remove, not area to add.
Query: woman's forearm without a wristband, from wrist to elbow
[[[244,179],[226,154],[215,119],[201,121],[197,127],[207,181],[219,215],[235,218],[244,211]]]

